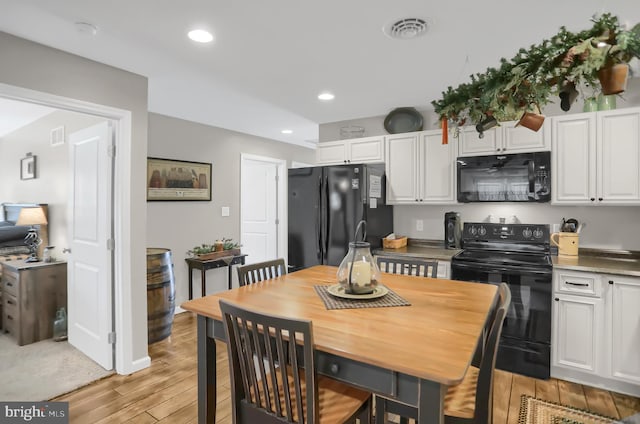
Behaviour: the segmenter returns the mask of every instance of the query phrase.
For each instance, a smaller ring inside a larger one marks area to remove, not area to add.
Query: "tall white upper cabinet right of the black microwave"
[[[553,203],[640,204],[640,108],[551,122]]]

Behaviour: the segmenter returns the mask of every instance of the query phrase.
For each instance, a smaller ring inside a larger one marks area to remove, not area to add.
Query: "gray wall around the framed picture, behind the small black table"
[[[188,297],[187,250],[222,237],[240,239],[240,155],[248,153],[313,163],[315,150],[149,113],[149,156],[210,162],[210,202],[148,202],[147,246],[171,249],[176,305]],[[230,207],[222,217],[220,208]],[[194,294],[200,294],[200,273],[194,272]],[[235,271],[234,271],[234,278]],[[207,293],[226,288],[227,269],[207,271]]]

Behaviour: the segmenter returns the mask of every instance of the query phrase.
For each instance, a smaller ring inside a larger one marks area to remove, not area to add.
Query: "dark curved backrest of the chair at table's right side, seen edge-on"
[[[491,423],[492,422],[492,404],[493,404],[493,371],[496,368],[496,357],[498,352],[498,344],[504,319],[511,303],[511,290],[506,283],[498,286],[500,300],[493,315],[493,324],[486,338],[482,360],[480,361],[480,370],[478,372],[478,385],[476,388],[476,406],[474,414],[474,422]]]

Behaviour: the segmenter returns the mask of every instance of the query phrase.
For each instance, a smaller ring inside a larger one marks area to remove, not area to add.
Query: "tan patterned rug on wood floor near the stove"
[[[613,418],[527,395],[522,395],[520,398],[518,424],[609,424],[618,422]]]

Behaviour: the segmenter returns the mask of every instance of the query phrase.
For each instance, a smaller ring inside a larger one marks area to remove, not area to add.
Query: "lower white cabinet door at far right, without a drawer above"
[[[610,376],[640,385],[640,278],[605,276],[609,283],[607,331]]]

